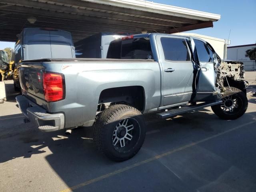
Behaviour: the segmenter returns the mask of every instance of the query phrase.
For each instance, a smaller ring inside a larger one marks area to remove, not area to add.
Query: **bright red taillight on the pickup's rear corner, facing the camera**
[[[59,101],[65,98],[65,80],[61,73],[44,72],[44,99],[47,102]]]

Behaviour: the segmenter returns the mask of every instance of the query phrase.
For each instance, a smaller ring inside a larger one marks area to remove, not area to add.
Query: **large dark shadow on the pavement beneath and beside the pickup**
[[[67,186],[72,187],[159,154],[205,140],[256,120],[255,117],[256,112],[250,112],[237,120],[220,120],[208,109],[167,120],[145,116],[148,134],[142,149],[134,158],[120,163],[112,162],[96,151],[92,140],[92,128],[78,128],[73,130],[71,135],[66,136],[63,130],[39,132],[28,123],[25,124],[26,126],[22,125],[25,130],[21,134],[2,138],[0,136],[2,151],[0,162],[18,157],[33,159],[38,154],[46,154],[46,161],[52,170]],[[255,123],[250,126],[255,126]],[[8,142],[11,138],[15,140]],[[247,161],[244,156],[237,156],[241,150],[239,146],[237,149],[227,148],[223,138],[220,141],[215,141],[216,139],[184,148],[116,176],[86,184],[77,191],[84,191],[85,188],[88,191],[97,191],[98,187],[104,189],[104,186],[108,191],[115,191],[118,187],[133,186],[133,184],[137,188],[127,188],[124,191],[166,191],[170,188],[175,188],[176,191],[193,191],[199,188],[217,190],[220,186],[227,190],[233,187],[233,191],[242,186],[247,186],[242,190],[244,192],[252,190],[256,181],[254,180],[256,171],[253,173],[256,156],[251,156],[251,160]],[[239,143],[239,141],[233,142]],[[244,179],[234,178],[235,174]]]

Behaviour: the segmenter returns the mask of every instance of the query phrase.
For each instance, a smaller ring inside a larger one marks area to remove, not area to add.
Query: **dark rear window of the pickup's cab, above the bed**
[[[149,38],[134,38],[111,42],[107,58],[153,59]]]

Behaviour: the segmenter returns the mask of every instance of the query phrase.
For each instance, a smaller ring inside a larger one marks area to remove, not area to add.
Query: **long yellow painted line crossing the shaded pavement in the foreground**
[[[197,144],[200,144],[200,143],[202,143],[202,142],[208,141],[208,140],[210,140],[210,139],[212,139],[212,138],[216,138],[216,137],[221,136],[221,135],[224,135],[224,134],[226,134],[226,133],[228,133],[228,132],[232,132],[232,131],[237,130],[237,129],[239,129],[239,128],[242,128],[242,127],[244,127],[244,126],[250,125],[250,124],[252,124],[252,123],[254,123],[254,122],[256,122],[256,121],[254,120],[254,121],[248,122],[248,123],[246,123],[246,124],[243,124],[243,125],[237,126],[237,127],[235,127],[235,128],[226,130],[226,131],[224,131],[224,132],[218,133],[218,134],[216,134],[216,135],[210,136],[210,137],[208,137],[208,138],[199,140],[199,141],[197,141],[197,142],[194,142],[194,143],[191,143],[191,144],[188,144],[188,145],[184,145],[184,146],[182,146],[182,147],[180,147],[180,148],[176,148],[176,149],[174,149],[174,150],[170,150],[170,151],[168,151],[168,152],[166,152],[166,153],[163,153],[163,154],[154,156],[154,157],[149,158],[149,159],[146,159],[146,160],[144,160],[144,161],[141,161],[141,162],[132,164],[132,165],[130,165],[130,166],[127,166],[127,167],[125,167],[125,168],[122,168],[122,169],[116,170],[116,171],[114,171],[114,172],[111,172],[111,173],[102,175],[102,176],[100,176],[100,177],[97,177],[97,178],[88,180],[88,181],[86,181],[86,182],[83,182],[83,183],[80,183],[80,184],[78,184],[78,185],[72,186],[72,187],[70,187],[70,188],[64,189],[64,190],[62,190],[62,191],[60,191],[60,192],[71,192],[71,191],[76,190],[76,189],[78,189],[78,188],[81,188],[81,187],[83,187],[83,186],[86,186],[86,185],[95,183],[95,182],[100,181],[100,180],[103,180],[103,179],[105,179],[105,178],[114,176],[114,175],[116,175],[116,174],[122,173],[122,172],[127,171],[127,170],[130,170],[130,169],[132,169],[132,168],[134,168],[134,167],[138,167],[138,166],[140,166],[140,165],[143,165],[143,164],[146,164],[146,163],[148,163],[148,162],[151,162],[151,161],[157,160],[157,159],[159,159],[159,158],[162,158],[162,157],[164,157],[164,156],[170,155],[170,154],[172,154],[172,153],[174,153],[174,152],[178,152],[178,151],[184,150],[184,149],[186,149],[186,148],[189,148],[189,147],[195,146],[195,145],[197,145]]]

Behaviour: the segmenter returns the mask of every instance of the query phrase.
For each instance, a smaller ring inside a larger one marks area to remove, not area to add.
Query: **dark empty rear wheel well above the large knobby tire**
[[[145,93],[142,86],[126,86],[105,89],[100,93],[98,112],[113,104],[129,104],[143,112]]]

